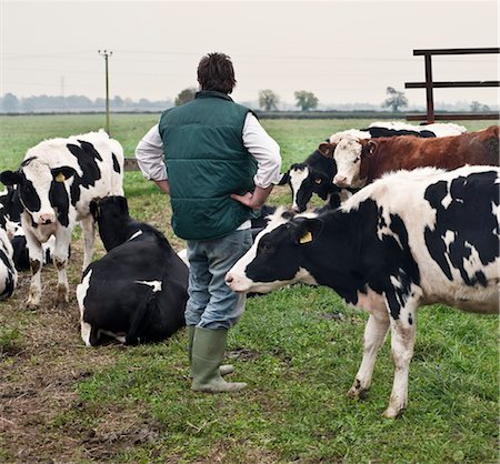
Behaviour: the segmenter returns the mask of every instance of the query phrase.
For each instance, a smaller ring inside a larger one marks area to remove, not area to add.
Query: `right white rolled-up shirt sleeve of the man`
[[[262,189],[277,184],[281,179],[280,147],[250,112],[244,120],[243,145],[257,161],[253,183]]]

